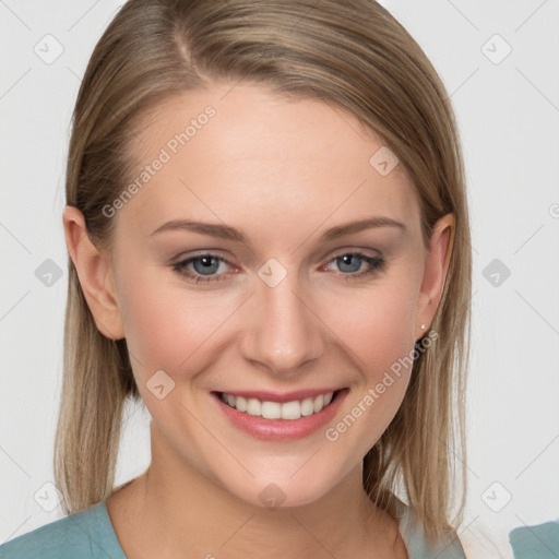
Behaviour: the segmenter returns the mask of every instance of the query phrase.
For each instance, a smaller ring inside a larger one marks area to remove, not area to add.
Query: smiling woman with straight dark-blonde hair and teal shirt
[[[386,10],[130,0],[67,204],[69,516],[2,557],[464,557],[463,164]],[[127,399],[152,462],[115,488]]]

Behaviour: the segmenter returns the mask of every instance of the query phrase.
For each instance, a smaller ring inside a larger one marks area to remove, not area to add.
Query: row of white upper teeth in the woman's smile
[[[234,396],[233,394],[222,393],[222,401],[231,407],[236,407],[239,412],[250,415],[261,416],[265,419],[300,419],[300,417],[318,414],[323,407],[332,402],[334,393],[328,392],[317,397],[307,397],[301,402],[261,402],[260,400],[242,396]]]

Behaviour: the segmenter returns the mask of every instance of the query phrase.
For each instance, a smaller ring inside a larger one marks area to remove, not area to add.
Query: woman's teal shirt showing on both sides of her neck
[[[457,537],[449,546],[429,548],[421,526],[405,506],[400,533],[409,559],[465,559]],[[127,559],[105,502],[69,514],[0,546],[0,559]]]

